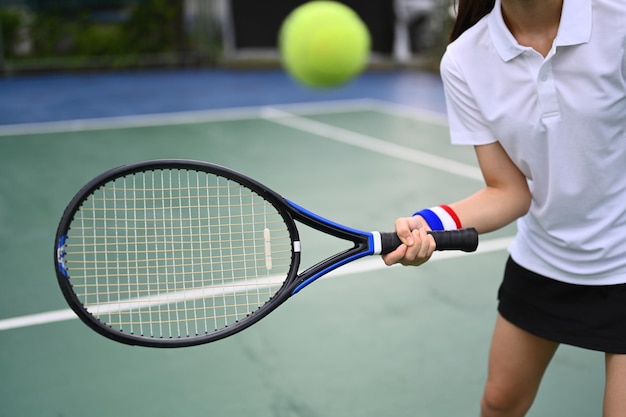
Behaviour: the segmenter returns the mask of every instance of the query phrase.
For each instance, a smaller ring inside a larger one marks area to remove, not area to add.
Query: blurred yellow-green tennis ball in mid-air
[[[316,0],[285,18],[278,44],[283,66],[296,81],[308,87],[332,88],[363,71],[370,34],[348,6]]]

